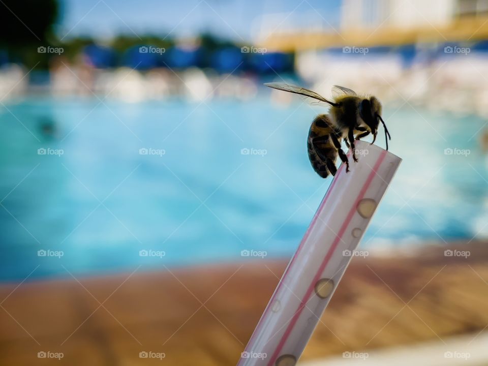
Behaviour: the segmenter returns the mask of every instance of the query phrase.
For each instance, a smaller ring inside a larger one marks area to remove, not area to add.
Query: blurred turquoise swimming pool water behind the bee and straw
[[[316,111],[299,101],[25,99],[6,106],[2,281],[35,268],[29,280],[241,261],[246,249],[289,257],[330,184],[310,167],[306,137]],[[390,150],[404,162],[364,247],[487,234],[486,158],[478,137],[470,139],[485,121],[421,114],[384,112]],[[256,154],[242,155],[246,148]],[[445,155],[446,148],[470,154]],[[63,257],[40,257],[40,250]]]

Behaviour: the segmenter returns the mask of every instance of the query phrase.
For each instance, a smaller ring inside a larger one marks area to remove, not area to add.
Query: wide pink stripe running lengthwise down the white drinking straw
[[[306,299],[308,299],[310,297],[310,295],[311,295],[311,293],[312,293],[312,291],[314,289],[315,283],[319,280],[321,274],[324,271],[325,266],[330,261],[330,258],[332,258],[333,252],[335,251],[335,249],[337,249],[337,246],[339,244],[339,241],[342,239],[342,235],[344,235],[344,232],[346,231],[347,227],[349,226],[349,224],[350,224],[350,222],[351,222],[351,220],[352,220],[352,218],[354,216],[354,213],[356,211],[357,204],[363,198],[364,194],[366,193],[366,191],[370,187],[371,182],[373,181],[373,177],[376,174],[376,170],[378,169],[378,167],[383,162],[385,156],[386,156],[386,151],[382,151],[380,157],[378,158],[378,161],[376,162],[375,166],[373,167],[373,171],[368,176],[368,179],[364,182],[364,185],[361,188],[361,191],[359,192],[359,195],[357,196],[357,198],[356,198],[353,206],[349,210],[349,214],[347,215],[346,220],[344,221],[343,225],[341,226],[341,229],[339,230],[339,233],[335,236],[335,240],[332,242],[332,245],[330,246],[330,249],[328,250],[327,255],[325,256],[324,261],[320,265],[319,270],[317,271],[317,273],[316,273],[316,275],[314,277],[314,280],[312,281],[312,283],[310,284],[309,288],[307,289],[307,292],[303,296],[303,299],[301,300],[300,305],[298,306],[298,309],[296,310],[293,318],[291,319],[290,324],[288,324],[288,327],[286,328],[285,332],[283,333],[283,337],[281,338],[281,340],[278,343],[278,346],[277,346],[275,352],[273,353],[272,357],[270,358],[269,363],[268,363],[268,366],[272,366],[273,361],[275,361],[277,359],[277,357],[278,357],[280,351],[282,350],[282,348],[283,348],[286,340],[288,339],[291,331],[293,330],[293,327],[295,326],[295,323],[297,322],[297,320],[298,320],[298,318],[299,318],[299,316],[301,314],[301,311],[303,310],[303,308],[306,306],[306,304],[308,302],[308,301],[306,301]],[[328,193],[329,192],[327,192],[327,195],[328,195]],[[312,223],[312,225],[313,224],[314,224],[314,222]]]

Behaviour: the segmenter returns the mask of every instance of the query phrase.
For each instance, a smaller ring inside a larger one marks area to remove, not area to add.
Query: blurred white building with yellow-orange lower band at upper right
[[[488,39],[488,0],[343,0],[340,25],[280,27],[260,35],[268,49],[399,46]]]

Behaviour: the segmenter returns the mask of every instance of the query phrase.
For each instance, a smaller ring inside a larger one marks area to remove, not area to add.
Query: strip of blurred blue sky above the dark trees
[[[186,37],[209,31],[236,41],[269,29],[337,27],[341,0],[60,0],[61,38],[155,33]],[[330,24],[330,25],[329,25]]]

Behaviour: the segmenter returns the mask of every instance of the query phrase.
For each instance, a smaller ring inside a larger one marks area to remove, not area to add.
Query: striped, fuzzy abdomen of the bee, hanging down
[[[310,126],[307,139],[309,159],[314,170],[322,178],[326,178],[329,174],[335,175],[337,171],[335,161],[338,152],[330,140],[332,133],[342,136],[342,132],[336,130],[326,114],[319,114]]]

